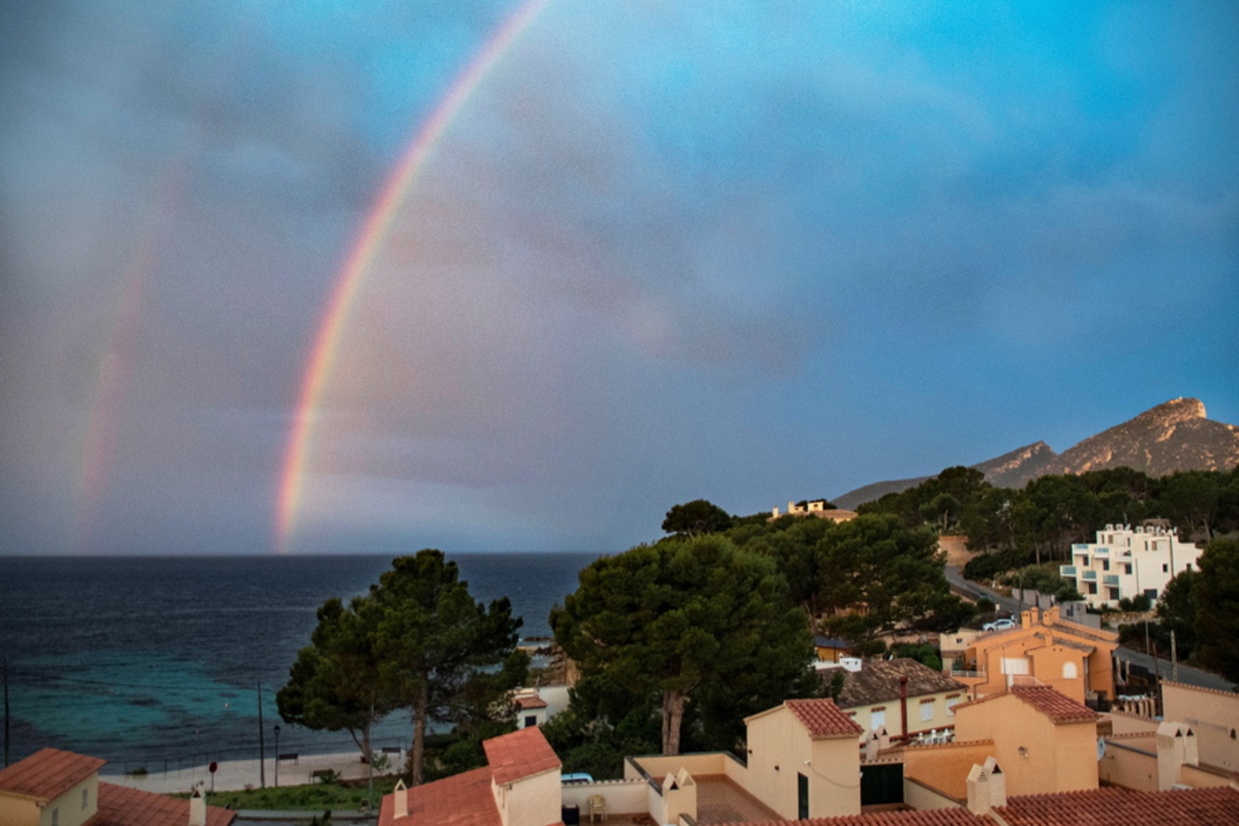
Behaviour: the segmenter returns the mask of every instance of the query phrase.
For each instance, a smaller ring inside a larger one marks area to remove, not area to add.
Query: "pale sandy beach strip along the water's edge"
[[[392,754],[393,764],[399,764],[404,759],[403,754]],[[266,785],[276,785],[275,758],[266,758]],[[311,774],[321,769],[337,772],[346,780],[364,780],[366,764],[362,763],[361,753],[357,750],[339,754],[301,754],[296,762],[280,760],[279,785],[295,786],[312,783]],[[224,760],[218,764],[214,776],[216,791],[240,791],[247,785],[259,788],[259,762],[258,760]],[[141,776],[128,774],[105,775],[100,778],[107,783],[121,786],[142,789],[144,791],[156,791],[160,794],[173,794],[190,791],[196,783],[202,783],[204,789],[212,788],[211,772],[207,765],[196,765],[175,772],[151,773]]]

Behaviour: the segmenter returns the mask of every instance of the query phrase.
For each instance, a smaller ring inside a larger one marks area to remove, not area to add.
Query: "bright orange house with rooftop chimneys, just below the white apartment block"
[[[1075,702],[1114,697],[1116,632],[1088,628],[1063,619],[1057,607],[1030,608],[1020,627],[981,634],[964,653],[965,669],[952,676],[973,696],[1006,691],[1017,685],[1047,685]]]

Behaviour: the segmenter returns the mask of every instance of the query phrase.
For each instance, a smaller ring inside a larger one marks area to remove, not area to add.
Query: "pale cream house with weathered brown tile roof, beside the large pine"
[[[826,685],[834,671],[823,671]],[[882,728],[892,741],[945,736],[955,724],[954,707],[968,700],[963,682],[908,658],[870,660],[844,675],[835,702],[866,736]]]

